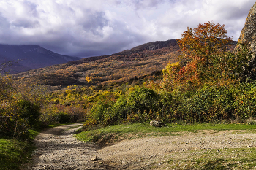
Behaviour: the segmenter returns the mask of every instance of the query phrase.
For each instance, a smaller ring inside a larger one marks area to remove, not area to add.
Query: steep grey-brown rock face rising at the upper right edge
[[[239,42],[248,42],[249,48],[253,53],[256,53],[256,2],[249,11],[246,18],[244,28],[241,31],[238,39],[238,45],[236,45],[235,51],[237,52]]]

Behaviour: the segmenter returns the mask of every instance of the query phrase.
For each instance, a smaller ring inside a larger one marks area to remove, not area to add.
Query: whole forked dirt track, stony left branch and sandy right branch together
[[[251,131],[197,131],[124,140],[100,148],[72,137],[78,128],[69,128],[76,125],[82,124],[50,128],[39,134],[34,163],[27,169],[167,169],[168,159],[176,153],[185,158],[187,150],[256,147],[256,134]],[[95,155],[99,159],[92,161]]]

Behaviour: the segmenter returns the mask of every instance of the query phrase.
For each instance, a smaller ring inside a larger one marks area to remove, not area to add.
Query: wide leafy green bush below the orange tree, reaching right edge
[[[181,99],[177,108],[178,117],[187,122],[200,123],[244,121],[256,116],[255,90],[255,82],[221,87],[206,85]]]

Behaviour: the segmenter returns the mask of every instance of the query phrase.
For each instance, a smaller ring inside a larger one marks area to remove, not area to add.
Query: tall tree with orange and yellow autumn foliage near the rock
[[[181,39],[177,40],[181,50],[180,61],[169,63],[163,70],[165,90],[175,87],[195,89],[214,77],[215,56],[223,55],[232,42],[224,27],[208,22],[194,29],[187,28],[181,34]]]

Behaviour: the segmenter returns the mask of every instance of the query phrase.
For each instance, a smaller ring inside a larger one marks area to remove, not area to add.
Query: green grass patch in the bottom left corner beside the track
[[[0,139],[0,169],[19,169],[34,150],[31,142]]]

